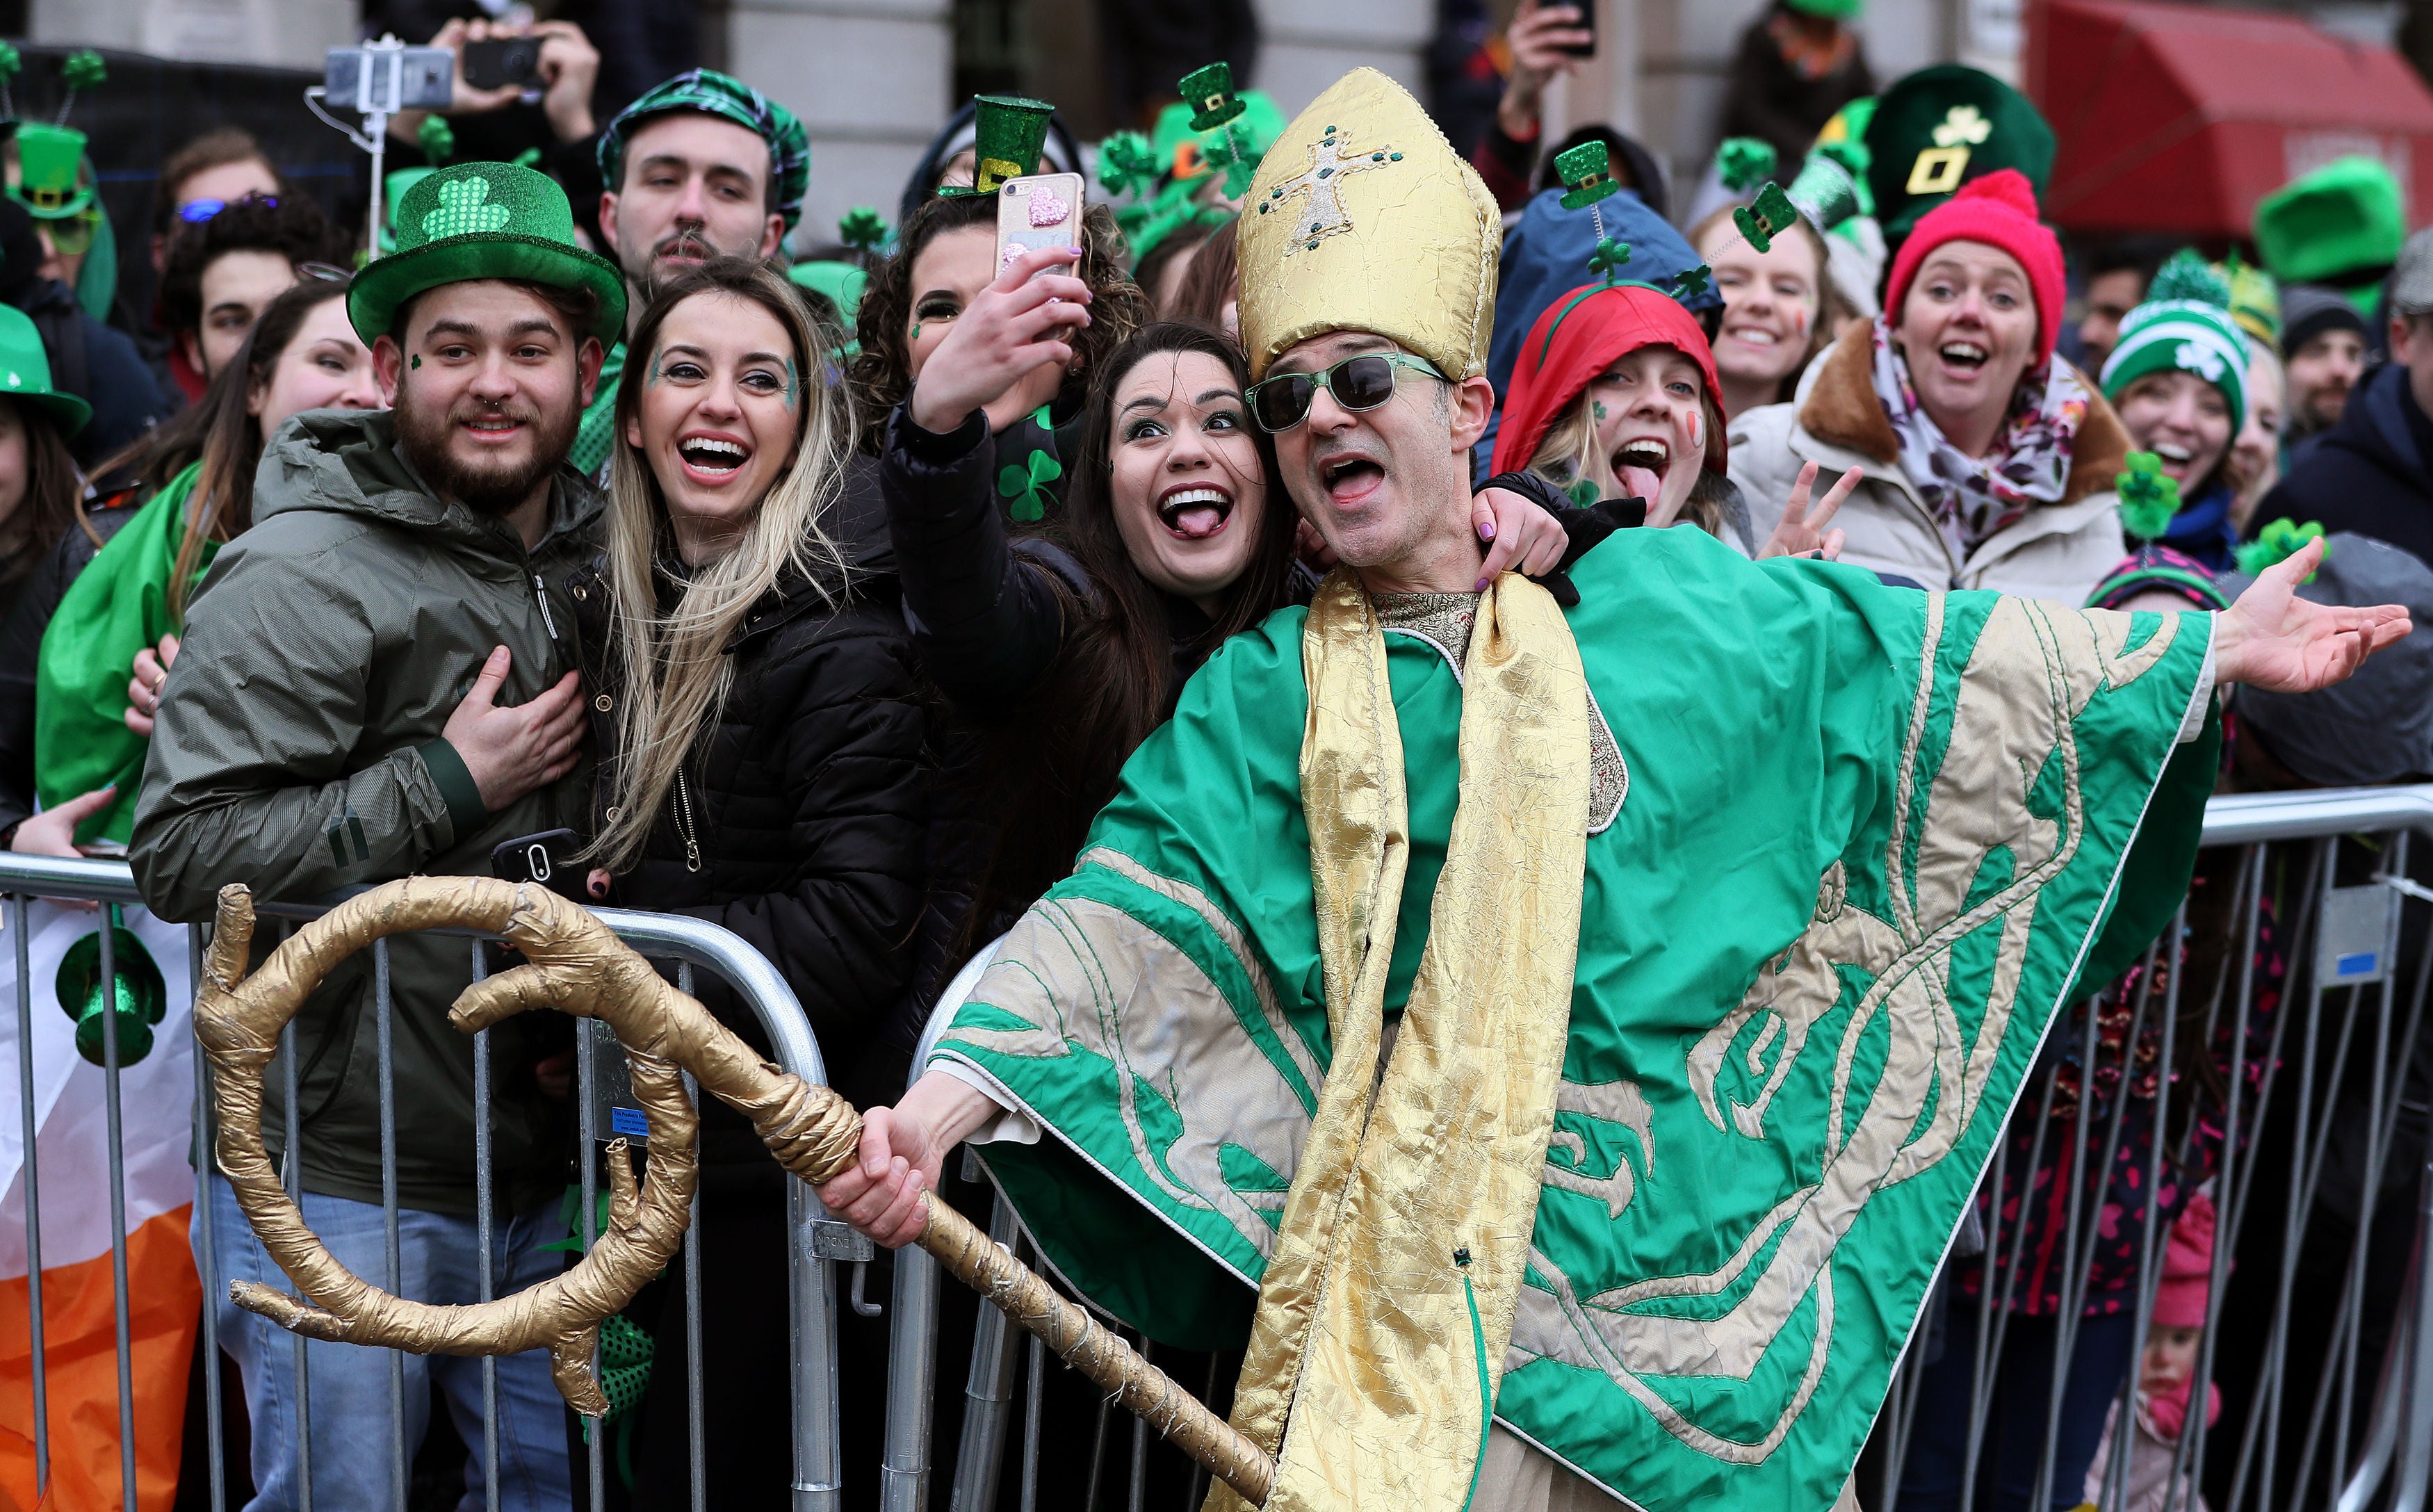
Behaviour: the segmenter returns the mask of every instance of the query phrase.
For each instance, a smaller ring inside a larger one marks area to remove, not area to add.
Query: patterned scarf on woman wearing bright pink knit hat
[[[2088,419],[2088,390],[2068,363],[2046,363],[2019,380],[1993,455],[1951,446],[1910,382],[1910,365],[1876,317],[1876,399],[1900,438],[1900,470],[1934,511],[1954,560],[2017,523],[2036,504],[2058,504],[2070,480],[2070,446]]]

